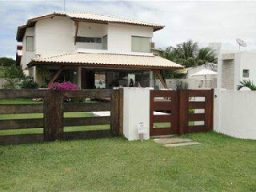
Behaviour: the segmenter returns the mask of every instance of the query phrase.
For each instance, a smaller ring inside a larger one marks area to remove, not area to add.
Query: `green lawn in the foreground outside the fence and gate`
[[[202,145],[104,138],[0,146],[0,191],[255,191],[255,141],[184,137]]]

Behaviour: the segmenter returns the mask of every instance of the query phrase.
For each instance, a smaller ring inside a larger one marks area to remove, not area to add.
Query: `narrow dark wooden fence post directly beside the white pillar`
[[[111,91],[111,134],[118,136],[119,134],[119,90]]]

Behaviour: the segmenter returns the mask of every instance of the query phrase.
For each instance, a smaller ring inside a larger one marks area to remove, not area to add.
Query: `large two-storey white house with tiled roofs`
[[[54,12],[18,26],[16,38],[22,42],[22,69],[39,84],[71,81],[92,89],[101,74],[105,88],[128,86],[130,79],[150,86],[153,72],[164,85],[162,70],[182,68],[150,50],[154,32],[163,28],[102,14]]]

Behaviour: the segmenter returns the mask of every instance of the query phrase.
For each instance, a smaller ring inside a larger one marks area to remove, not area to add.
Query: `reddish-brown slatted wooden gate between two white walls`
[[[213,130],[214,90],[151,90],[150,136]]]

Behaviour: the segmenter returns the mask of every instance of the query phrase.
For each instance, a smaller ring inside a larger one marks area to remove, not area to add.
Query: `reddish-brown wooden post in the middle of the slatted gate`
[[[179,134],[186,134],[188,127],[189,90],[179,90]]]

